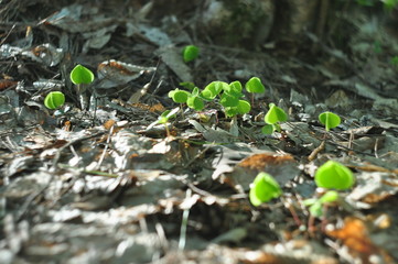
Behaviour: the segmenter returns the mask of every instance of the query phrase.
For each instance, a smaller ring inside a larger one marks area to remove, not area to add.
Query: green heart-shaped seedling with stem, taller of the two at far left
[[[86,96],[86,89],[89,84],[94,81],[94,74],[88,68],[76,65],[71,72],[71,80],[76,85],[76,91],[80,99],[82,109],[86,109],[88,105],[88,99]]]

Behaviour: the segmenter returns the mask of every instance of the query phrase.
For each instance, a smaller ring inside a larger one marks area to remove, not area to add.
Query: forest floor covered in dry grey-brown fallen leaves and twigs
[[[357,29],[345,50],[309,34],[290,54],[198,38],[194,9],[160,22],[149,6],[66,2],[1,3],[0,263],[398,262],[398,38],[375,20],[345,21]],[[185,64],[187,44],[200,56]],[[96,76],[87,109],[77,64]],[[214,100],[157,123],[182,81],[252,76],[266,92],[246,95],[248,114]],[[49,110],[54,90],[66,103]],[[289,120],[265,135],[270,102]],[[342,123],[326,132],[324,111]],[[356,183],[314,217],[304,200],[330,160]],[[259,172],[283,195],[254,207]]]

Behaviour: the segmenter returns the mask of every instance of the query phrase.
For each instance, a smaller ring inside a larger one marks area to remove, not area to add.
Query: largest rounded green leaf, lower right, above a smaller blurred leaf
[[[354,183],[355,177],[349,168],[334,161],[324,163],[315,173],[315,184],[318,187],[348,189]]]

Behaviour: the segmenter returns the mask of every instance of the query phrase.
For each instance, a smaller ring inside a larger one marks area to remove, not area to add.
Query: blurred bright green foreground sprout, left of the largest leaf
[[[259,173],[250,187],[249,199],[251,205],[257,207],[281,195],[278,182],[267,173]]]

